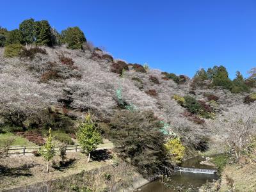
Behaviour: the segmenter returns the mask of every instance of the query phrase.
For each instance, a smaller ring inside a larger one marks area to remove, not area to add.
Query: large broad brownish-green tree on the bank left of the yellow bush
[[[140,173],[159,173],[168,167],[162,125],[152,111],[118,111],[109,125],[109,136],[119,156]]]

